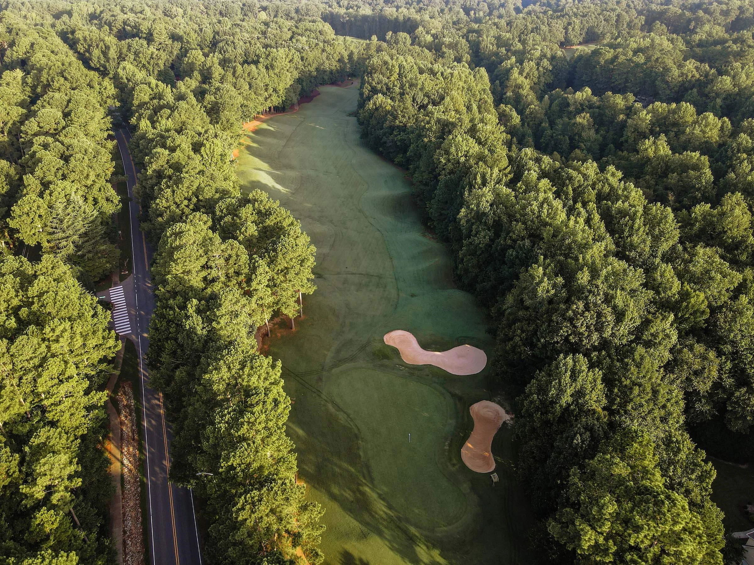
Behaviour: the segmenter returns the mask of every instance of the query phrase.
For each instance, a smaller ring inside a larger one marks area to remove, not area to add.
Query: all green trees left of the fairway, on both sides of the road
[[[280,363],[259,355],[255,338],[314,291],[314,247],[277,202],[241,194],[230,157],[243,121],[357,72],[360,52],[376,45],[242,8],[9,3],[0,15],[8,563],[114,558],[97,391],[117,342],[78,282],[90,286],[113,264],[110,114],[133,128],[142,219],[157,246],[149,362],[175,423],[172,479],[204,500],[205,556],[323,559],[321,510],[305,500],[285,434]]]

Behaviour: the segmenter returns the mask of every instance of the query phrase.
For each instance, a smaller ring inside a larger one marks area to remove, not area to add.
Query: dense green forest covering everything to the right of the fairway
[[[551,554],[735,560],[689,430],[752,457],[752,7],[448,17],[388,34],[359,120],[489,307]]]

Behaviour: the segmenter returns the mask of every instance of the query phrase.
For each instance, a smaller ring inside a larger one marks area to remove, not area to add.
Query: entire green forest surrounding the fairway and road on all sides
[[[244,121],[348,76],[364,139],[489,309],[538,543],[561,562],[736,562],[706,452],[754,460],[738,0],[0,2],[0,561],[114,559],[118,341],[91,291],[118,261],[115,127],[156,250],[171,472],[204,501],[207,562],[323,561],[280,363],[254,337],[314,292],[314,248],[241,194],[231,152]]]

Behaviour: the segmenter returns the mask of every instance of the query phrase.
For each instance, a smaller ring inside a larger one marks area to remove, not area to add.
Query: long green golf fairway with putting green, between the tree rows
[[[453,286],[403,173],[360,141],[348,116],[356,85],[320,92],[247,136],[238,175],[280,200],[317,246],[317,292],[270,354],[295,402],[299,478],[326,510],[325,562],[536,563],[510,429],[492,444],[497,486],[461,462],[489,369],[461,377],[407,365],[382,341],[404,329],[428,350],[471,344],[491,357],[483,312]]]

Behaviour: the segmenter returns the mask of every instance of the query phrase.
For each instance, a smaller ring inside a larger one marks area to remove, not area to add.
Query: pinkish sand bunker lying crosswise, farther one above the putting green
[[[400,351],[400,358],[411,365],[434,365],[452,374],[475,374],[487,365],[487,355],[477,347],[459,345],[447,351],[427,351],[408,331],[385,334],[385,343]]]

